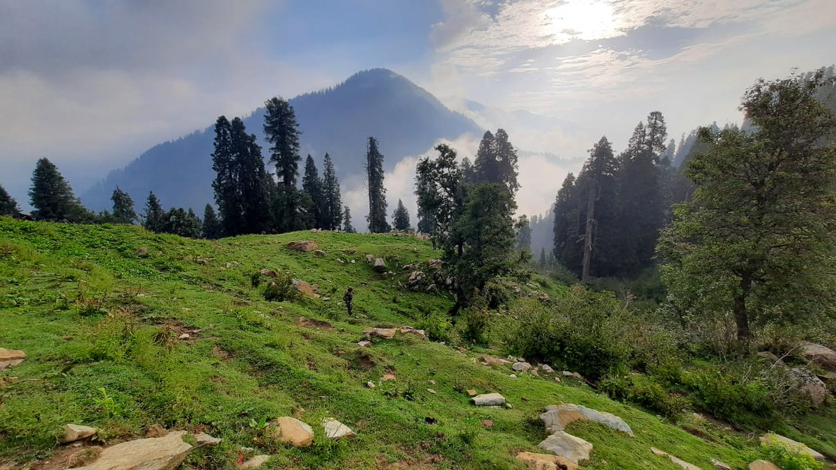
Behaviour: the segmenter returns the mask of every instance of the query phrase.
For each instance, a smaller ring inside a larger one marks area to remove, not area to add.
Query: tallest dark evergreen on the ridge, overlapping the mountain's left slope
[[[299,217],[302,197],[296,188],[299,155],[299,130],[293,106],[280,97],[264,103],[264,135],[270,146],[270,161],[276,166],[278,190],[273,202],[273,217],[278,232],[299,230],[303,222]]]

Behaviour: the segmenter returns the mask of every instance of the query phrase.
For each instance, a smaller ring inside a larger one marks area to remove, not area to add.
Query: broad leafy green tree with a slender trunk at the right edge
[[[836,118],[816,99],[822,74],[747,89],[752,131],[701,130],[691,202],[660,240],[662,278],[681,319],[733,319],[737,345],[758,324],[801,322],[834,306]]]

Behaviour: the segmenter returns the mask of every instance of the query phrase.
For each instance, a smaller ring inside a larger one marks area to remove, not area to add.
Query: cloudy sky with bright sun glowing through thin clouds
[[[519,211],[545,212],[601,135],[620,151],[653,110],[677,141],[739,122],[747,86],[833,64],[833,43],[834,0],[0,0],[0,184],[25,207],[47,156],[80,193],[213,116],[384,67],[559,156],[520,160]],[[417,157],[386,179],[412,211]]]

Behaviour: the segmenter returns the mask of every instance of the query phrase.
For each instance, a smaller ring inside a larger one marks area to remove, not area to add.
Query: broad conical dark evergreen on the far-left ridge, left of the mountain
[[[75,197],[73,188],[58,167],[46,158],[38,160],[33,171],[29,201],[36,220],[92,222],[94,218]]]

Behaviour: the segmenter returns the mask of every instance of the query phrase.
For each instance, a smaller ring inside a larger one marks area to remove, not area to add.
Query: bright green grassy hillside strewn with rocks
[[[306,239],[326,255],[285,248]],[[385,258],[395,276],[375,273],[365,253]],[[359,348],[364,327],[420,326],[449,308],[441,294],[403,287],[402,265],[436,257],[429,243],[395,235],[296,232],[212,242],[0,218],[0,347],[28,354],[0,372],[0,467],[23,468],[59,451],[61,427],[75,422],[99,427],[106,443],[143,436],[155,424],[223,438],[220,447],[191,452],[190,468],[232,468],[242,447],[272,454],[271,468],[517,468],[517,452],[537,452],[546,437],[538,414],[562,402],[613,412],[635,432],[574,423],[568,431],[595,446],[584,467],[678,468],[651,446],[703,468],[712,457],[733,467],[749,461],[752,437],[716,434],[708,424],[697,437],[578,381],[512,378],[509,369],[478,364],[483,351],[416,335]],[[262,268],[319,284],[331,300],[265,301],[251,280]],[[357,319],[339,301],[349,285]],[[300,316],[333,328],[302,326]],[[385,373],[397,380],[366,388]],[[500,392],[512,408],[472,406],[466,389]],[[258,423],[277,416],[310,423],[314,446],[266,439]],[[328,441],[318,426],[324,416],[358,436]]]

